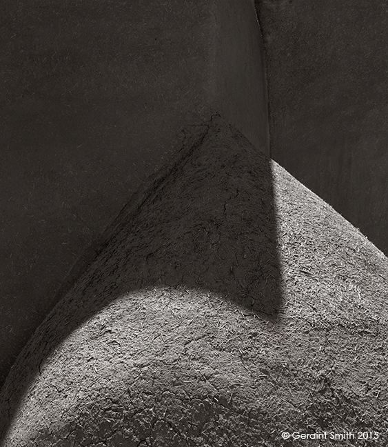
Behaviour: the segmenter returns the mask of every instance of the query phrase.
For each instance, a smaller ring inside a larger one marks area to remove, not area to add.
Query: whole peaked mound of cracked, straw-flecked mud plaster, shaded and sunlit
[[[213,117],[21,352],[0,445],[386,445],[387,278],[358,230]]]

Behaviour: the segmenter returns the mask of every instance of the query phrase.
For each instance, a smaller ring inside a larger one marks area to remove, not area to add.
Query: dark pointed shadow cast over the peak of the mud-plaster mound
[[[209,290],[276,323],[283,303],[271,161],[218,116],[185,135],[174,164],[121,212],[90,268],[19,355],[0,395],[0,436],[44,359],[134,290]]]

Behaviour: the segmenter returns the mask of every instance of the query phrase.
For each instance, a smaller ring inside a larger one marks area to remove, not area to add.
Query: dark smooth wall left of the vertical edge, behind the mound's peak
[[[3,0],[0,17],[2,384],[185,126],[218,113],[269,148],[253,0]]]

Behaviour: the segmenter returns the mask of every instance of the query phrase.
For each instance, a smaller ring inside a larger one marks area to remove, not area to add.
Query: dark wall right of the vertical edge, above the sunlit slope
[[[388,254],[388,6],[256,0],[271,157]]]

